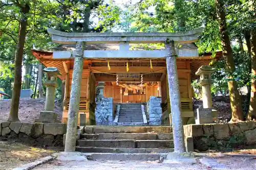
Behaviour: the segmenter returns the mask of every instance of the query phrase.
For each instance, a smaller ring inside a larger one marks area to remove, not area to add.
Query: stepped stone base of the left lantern
[[[42,123],[61,123],[58,120],[58,115],[54,111],[40,111],[40,116],[35,122],[42,122]]]

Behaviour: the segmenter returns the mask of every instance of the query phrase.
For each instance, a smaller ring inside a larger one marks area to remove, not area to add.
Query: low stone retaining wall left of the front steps
[[[66,124],[60,123],[0,123],[0,140],[15,139],[35,146],[63,146]]]

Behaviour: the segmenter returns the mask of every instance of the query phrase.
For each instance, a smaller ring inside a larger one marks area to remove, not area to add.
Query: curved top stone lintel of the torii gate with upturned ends
[[[52,35],[52,41],[62,44],[72,44],[79,41],[87,43],[163,43],[174,40],[180,43],[191,43],[198,39],[203,28],[176,33],[67,33],[47,29]]]

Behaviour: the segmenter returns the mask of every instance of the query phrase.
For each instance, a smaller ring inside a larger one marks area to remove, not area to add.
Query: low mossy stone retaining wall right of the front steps
[[[193,137],[196,150],[228,151],[245,145],[256,145],[256,122],[185,125],[184,135]]]

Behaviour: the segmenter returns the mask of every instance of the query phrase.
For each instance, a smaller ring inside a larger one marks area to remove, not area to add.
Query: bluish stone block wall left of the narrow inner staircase
[[[113,125],[113,98],[96,100],[96,125]]]

